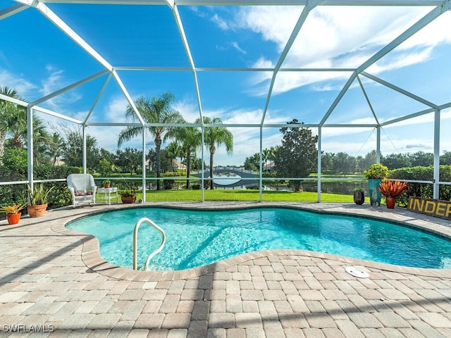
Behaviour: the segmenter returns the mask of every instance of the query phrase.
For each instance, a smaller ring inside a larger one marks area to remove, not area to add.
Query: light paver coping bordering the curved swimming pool
[[[189,280],[202,275],[209,275],[211,273],[216,273],[220,271],[227,270],[240,263],[245,263],[252,261],[257,258],[268,257],[268,256],[305,256],[309,258],[321,258],[332,261],[339,261],[346,265],[358,265],[364,267],[371,272],[372,269],[383,270],[393,273],[407,273],[412,275],[421,275],[428,277],[451,277],[450,269],[428,269],[428,268],[411,268],[402,265],[390,265],[386,263],[377,263],[373,261],[365,261],[358,258],[350,258],[345,256],[333,255],[330,253],[321,253],[316,251],[306,251],[299,249],[271,249],[263,251],[252,251],[250,253],[243,253],[239,256],[233,256],[227,258],[223,261],[218,261],[209,265],[204,265],[199,268],[192,268],[187,270],[175,270],[175,271],[137,271],[131,270],[129,268],[122,268],[113,265],[104,260],[99,253],[99,241],[96,237],[85,234],[82,232],[76,232],[66,228],[66,225],[73,220],[78,218],[93,215],[95,213],[104,213],[113,210],[118,210],[119,208],[142,208],[142,207],[155,207],[155,208],[178,208],[178,209],[189,209],[189,210],[242,210],[246,208],[293,208],[297,210],[312,211],[315,213],[327,213],[327,214],[338,214],[338,215],[354,215],[352,211],[345,208],[341,208],[343,204],[309,204],[309,203],[245,203],[245,204],[234,204],[234,203],[214,203],[209,204],[208,202],[203,202],[201,205],[196,203],[156,203],[152,204],[140,204],[139,206],[125,206],[119,204],[118,206],[113,206],[108,210],[102,209],[85,209],[82,214],[78,213],[76,215],[71,215],[67,217],[66,220],[62,222],[52,222],[51,230],[58,232],[60,234],[65,234],[68,236],[78,237],[82,241],[82,261],[85,263],[89,270],[95,273],[105,275],[107,277],[116,278],[118,280],[129,280],[129,281],[171,281],[171,280]],[[349,208],[351,205],[347,205]],[[320,207],[321,206],[321,207]],[[324,208],[326,206],[326,208]],[[359,206],[360,207],[360,206]],[[77,210],[77,209],[74,209]],[[433,232],[439,234],[440,236],[447,237],[451,239],[451,223],[444,223],[443,220],[437,221],[435,219],[426,218],[423,215],[412,213],[410,211],[398,211],[397,213],[386,212],[383,209],[378,208],[358,208],[359,215],[357,217],[371,218],[376,220],[389,221],[390,223],[400,223],[402,225],[407,225],[408,227],[414,227],[419,230],[426,230],[428,232]],[[395,216],[395,217],[394,217]]]

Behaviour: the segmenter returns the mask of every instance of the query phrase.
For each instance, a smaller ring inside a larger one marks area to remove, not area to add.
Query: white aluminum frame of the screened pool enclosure
[[[109,82],[109,79],[111,78],[111,76],[113,76],[113,77],[115,77],[115,80],[118,83],[118,86],[120,87],[121,91],[123,92],[125,98],[128,100],[128,103],[130,104],[130,106],[132,106],[133,110],[135,111],[137,118],[140,120],[140,124],[136,124],[136,125],[142,125],[143,127],[147,127],[150,125],[159,125],[159,124],[147,124],[144,122],[144,120],[142,119],[142,116],[140,115],[140,112],[137,110],[137,107],[135,106],[134,102],[132,101],[130,94],[128,94],[128,90],[126,89],[125,85],[121,81],[121,78],[118,76],[118,74],[116,72],[116,70],[119,70],[119,69],[120,70],[177,70],[177,71],[190,70],[190,71],[192,71],[192,74],[194,77],[195,90],[196,90],[196,94],[197,94],[197,101],[198,101],[198,106],[199,106],[199,115],[201,117],[201,123],[199,124],[199,126],[202,129],[202,140],[204,138],[204,127],[215,126],[215,125],[204,125],[204,123],[203,123],[202,102],[200,99],[199,85],[198,85],[198,81],[197,81],[197,72],[202,72],[202,71],[258,72],[258,71],[261,71],[261,72],[272,72],[273,73],[270,88],[268,90],[268,96],[266,97],[266,104],[264,106],[264,113],[261,118],[261,123],[259,125],[257,125],[257,124],[224,125],[225,127],[260,127],[261,137],[262,137],[262,128],[263,127],[284,127],[284,126],[286,126],[285,123],[280,124],[280,125],[279,124],[268,124],[268,125],[264,124],[264,119],[266,117],[266,112],[268,110],[268,103],[271,100],[273,85],[275,83],[278,72],[284,72],[284,71],[286,71],[286,72],[308,72],[308,71],[327,71],[327,72],[347,71],[347,72],[352,72],[352,75],[347,80],[345,87],[342,88],[342,90],[340,91],[340,94],[338,94],[338,96],[335,98],[335,101],[328,109],[326,115],[323,116],[323,118],[319,124],[292,125],[292,127],[295,127],[295,126],[318,127],[320,135],[321,135],[322,127],[376,127],[376,129],[378,131],[378,142],[377,142],[378,151],[377,152],[379,153],[380,133],[381,133],[382,126],[390,125],[393,123],[400,122],[402,120],[407,120],[409,118],[414,118],[416,116],[424,115],[424,114],[435,111],[434,166],[437,168],[434,168],[434,170],[435,170],[434,171],[434,179],[438,177],[438,156],[439,156],[439,154],[438,154],[438,151],[439,151],[438,137],[440,136],[440,110],[443,108],[450,108],[451,102],[447,103],[447,104],[443,104],[441,106],[438,106],[436,104],[433,104],[433,103],[427,101],[426,99],[421,98],[420,96],[416,96],[410,92],[407,92],[404,89],[401,89],[400,87],[397,87],[393,84],[390,84],[389,82],[381,80],[378,77],[369,75],[364,70],[366,70],[366,68],[369,68],[369,66],[373,65],[381,58],[383,58],[383,56],[388,54],[390,51],[393,51],[393,49],[395,49],[397,46],[402,44],[402,42],[404,42],[409,37],[412,37],[412,35],[414,35],[416,32],[418,32],[423,27],[428,25],[428,23],[431,23],[431,21],[433,21],[435,18],[440,16],[442,13],[444,13],[445,11],[449,11],[451,8],[450,0],[441,0],[441,1],[436,1],[436,0],[371,0],[371,1],[370,0],[267,0],[267,1],[265,1],[265,0],[244,0],[244,1],[241,1],[241,0],[222,0],[222,1],[221,0],[41,0],[41,1],[39,1],[39,0],[15,0],[15,1],[18,2],[18,4],[9,6],[8,8],[5,8],[0,11],[0,20],[2,20],[4,18],[8,18],[9,16],[19,13],[20,11],[24,11],[25,9],[27,9],[29,7],[34,7],[37,9],[37,11],[42,13],[42,15],[44,15],[48,20],[50,20],[54,25],[56,25],[56,27],[58,27],[61,31],[63,31],[66,35],[68,35],[68,37],[70,37],[70,39],[73,39],[73,41],[75,43],[77,43],[80,47],[82,47],[82,49],[87,51],[87,53],[90,56],[92,56],[92,58],[94,58],[97,62],[99,62],[102,66],[104,66],[104,68],[106,68],[106,70],[104,70],[103,73],[101,72],[102,74],[110,72],[109,78],[106,80],[106,83],[102,87],[101,92],[95,99],[94,104],[87,115],[87,118],[85,118],[85,121],[80,121],[80,120],[76,120],[73,118],[69,118],[67,116],[49,111],[47,109],[39,108],[35,105],[39,104],[42,101],[46,101],[47,99],[51,99],[51,97],[62,94],[63,92],[66,92],[74,87],[78,87],[78,85],[87,82],[88,79],[90,79],[90,77],[88,77],[87,79],[82,80],[80,82],[75,82],[74,84],[71,84],[70,86],[65,87],[63,89],[60,89],[57,92],[54,92],[47,96],[44,96],[43,98],[41,98],[37,101],[34,101],[31,104],[23,103],[22,101],[19,101],[19,100],[18,100],[18,102],[20,102],[20,103],[16,102],[17,104],[20,104],[22,106],[27,106],[27,117],[29,118],[29,120],[31,120],[31,121],[28,121],[29,133],[27,135],[30,149],[31,149],[31,154],[30,153],[28,154],[28,156],[29,156],[29,173],[31,172],[31,174],[29,174],[29,177],[31,180],[31,182],[30,182],[31,184],[32,184],[32,161],[33,161],[33,159],[32,159],[32,115],[33,115],[34,110],[42,111],[43,113],[49,113],[50,115],[54,115],[58,118],[66,119],[66,120],[69,120],[74,123],[80,123],[83,125],[83,128],[87,127],[88,125],[119,125],[119,126],[135,125],[135,124],[128,124],[128,123],[92,123],[92,124],[88,123],[89,117],[90,117],[92,111],[94,110],[94,107],[97,105],[97,102],[99,101],[99,98],[101,97],[101,94],[103,94],[104,89],[106,88],[106,84]],[[159,67],[114,68],[110,63],[108,63],[108,61],[106,61],[106,59],[104,59],[99,53],[97,53],[97,51],[94,48],[92,48],[92,46],[89,46],[89,44],[87,44],[87,42],[85,42],[85,40],[83,40],[63,20],[61,20],[61,18],[59,18],[55,13],[53,13],[51,11],[51,9],[45,5],[46,3],[47,4],[109,4],[109,5],[124,4],[124,5],[169,6],[171,8],[171,10],[173,11],[175,22],[178,26],[180,37],[183,41],[183,45],[185,47],[187,58],[190,62],[190,67],[189,68],[159,68]],[[177,8],[178,6],[304,6],[304,8],[303,8],[301,15],[299,16],[299,19],[297,21],[297,24],[295,25],[295,28],[292,31],[292,34],[290,35],[290,38],[288,39],[287,44],[285,45],[285,49],[283,50],[282,54],[280,55],[280,58],[278,60],[278,63],[276,64],[275,68],[195,68],[194,60],[193,60],[192,54],[190,52],[190,47],[187,42],[187,37],[185,36],[185,31],[183,29],[183,23],[180,18],[180,15],[178,13],[178,8]],[[409,27],[409,29],[404,31],[396,39],[394,39],[392,42],[390,42],[385,47],[383,47],[383,49],[381,49],[376,54],[371,56],[371,58],[369,58],[367,61],[362,63],[362,65],[360,65],[359,68],[356,68],[356,69],[350,69],[350,68],[342,68],[342,69],[281,68],[283,61],[285,61],[285,58],[288,55],[288,53],[292,47],[292,44],[295,42],[295,39],[296,39],[300,29],[302,28],[304,20],[307,18],[307,15],[309,14],[309,11],[311,11],[316,6],[431,6],[431,7],[433,6],[435,8],[432,11],[430,11],[428,14],[426,14],[423,18],[421,18],[419,21],[417,21],[414,25]],[[371,106],[369,97],[366,95],[366,91],[364,89],[362,81],[359,78],[360,74],[362,74],[366,77],[369,77],[371,80],[381,83],[381,84],[389,87],[390,89],[400,92],[401,94],[409,96],[410,98],[415,99],[416,101],[419,101],[422,104],[425,104],[426,106],[429,106],[431,108],[427,109],[425,111],[419,111],[417,113],[412,113],[412,114],[406,115],[401,118],[395,118],[393,120],[386,121],[385,123],[379,123],[376,113],[373,111],[373,107]],[[95,75],[92,75],[93,78],[94,78],[94,76]],[[335,107],[342,99],[342,96],[344,96],[345,92],[347,92],[347,89],[350,88],[351,84],[354,82],[356,77],[357,77],[357,80],[359,81],[362,92],[364,92],[364,96],[366,97],[366,101],[369,104],[371,112],[373,113],[373,116],[376,119],[376,124],[374,124],[374,125],[372,125],[372,124],[359,124],[359,125],[330,124],[330,125],[327,125],[326,120],[330,116],[330,113],[332,113],[334,111]],[[92,79],[90,79],[90,80],[92,80]],[[0,99],[2,99],[2,98],[3,97],[0,95]],[[13,101],[13,99],[8,98],[7,101]],[[186,125],[184,124],[184,125],[179,125],[179,126],[188,127],[188,126],[190,126],[190,124],[186,124]],[[143,149],[145,149],[144,142],[145,142],[145,134],[144,134],[144,130],[143,130]],[[262,142],[261,139],[260,139],[260,142]],[[319,149],[321,149],[321,137],[320,137],[319,142],[320,142]],[[203,144],[203,142],[202,142],[202,144]],[[260,146],[260,153],[261,153],[261,151],[262,151],[262,149]],[[144,154],[144,152],[143,152],[143,154]],[[31,156],[31,158],[30,158],[30,156]],[[261,156],[261,154],[260,154],[260,156]],[[379,159],[379,154],[378,154],[378,159]],[[261,162],[261,158],[260,158],[260,162]],[[318,163],[319,163],[319,187],[321,187],[321,154],[320,154],[320,151],[319,151],[319,162]],[[30,170],[30,165],[31,165],[31,170]],[[84,165],[84,167],[86,165],[85,158],[84,158],[83,165]],[[143,159],[143,166],[144,165],[145,165],[145,163],[144,163],[144,159]],[[204,166],[204,146],[202,146],[202,173],[204,171],[203,166]],[[204,177],[202,175],[202,179],[203,178]],[[145,182],[145,180],[143,182]],[[144,185],[144,183],[143,183],[143,185]],[[437,188],[437,191],[435,188]],[[436,193],[438,194],[438,183],[436,183],[434,185],[434,196]],[[319,195],[319,199],[320,199],[320,195]],[[204,192],[202,189],[202,201],[203,200],[204,200]]]

